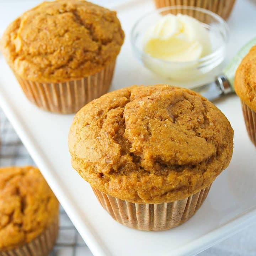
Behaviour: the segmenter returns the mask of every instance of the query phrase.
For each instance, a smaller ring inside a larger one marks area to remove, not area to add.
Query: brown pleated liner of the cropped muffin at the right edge
[[[247,132],[252,143],[256,146],[256,112],[251,110],[243,101],[241,104]]]

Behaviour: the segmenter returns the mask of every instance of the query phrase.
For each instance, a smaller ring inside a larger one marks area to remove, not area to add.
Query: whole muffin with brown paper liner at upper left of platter
[[[116,12],[83,0],[59,0],[13,21],[1,48],[30,101],[73,113],[107,92],[123,41]]]

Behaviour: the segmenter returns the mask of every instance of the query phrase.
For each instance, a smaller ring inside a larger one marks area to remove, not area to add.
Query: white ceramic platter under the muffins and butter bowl
[[[137,62],[129,42],[134,21],[153,8],[152,2],[145,0],[116,7],[127,36],[118,57],[112,90],[162,82]],[[248,25],[256,23],[255,11],[253,1],[237,1],[229,20],[228,59],[254,36],[253,27]],[[235,95],[216,102],[235,130],[230,166],[213,183],[203,206],[188,222],[168,231],[144,232],[112,220],[89,184],[72,169],[67,135],[73,115],[39,110],[27,101],[2,57],[0,67],[0,105],[94,255],[196,255],[256,222],[256,149],[247,136]]]

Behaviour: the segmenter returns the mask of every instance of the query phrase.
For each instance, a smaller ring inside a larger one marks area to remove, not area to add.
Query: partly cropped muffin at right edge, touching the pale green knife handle
[[[244,57],[235,74],[234,87],[240,97],[246,129],[256,146],[256,46]]]

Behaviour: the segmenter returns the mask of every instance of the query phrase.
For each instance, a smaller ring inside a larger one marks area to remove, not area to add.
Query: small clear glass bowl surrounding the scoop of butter
[[[151,57],[145,53],[144,37],[147,30],[156,24],[163,15],[185,14],[199,20],[208,30],[212,52],[203,58],[191,62],[171,62]],[[168,6],[150,12],[140,18],[132,28],[131,42],[136,57],[146,68],[169,80],[176,82],[194,81],[208,74],[220,63],[226,55],[226,44],[229,36],[227,23],[214,12],[192,6]]]

